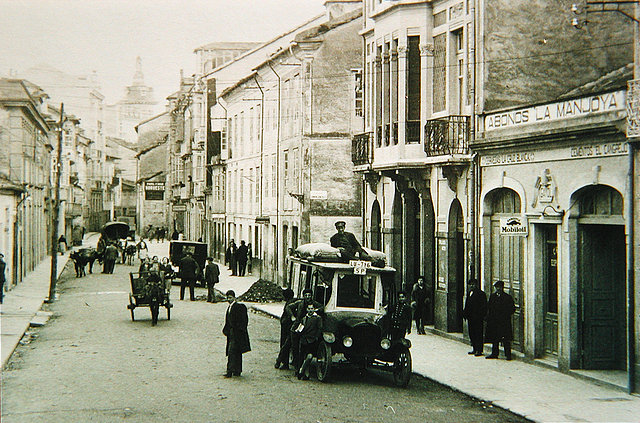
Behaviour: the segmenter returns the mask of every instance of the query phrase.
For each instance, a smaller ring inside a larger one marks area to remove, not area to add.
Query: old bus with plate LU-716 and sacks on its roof
[[[397,386],[411,378],[411,342],[392,340],[387,310],[395,305],[395,269],[370,262],[340,263],[288,257],[288,281],[298,298],[304,289],[324,305],[323,340],[316,357],[317,377],[329,379],[333,357],[360,368],[393,373]]]

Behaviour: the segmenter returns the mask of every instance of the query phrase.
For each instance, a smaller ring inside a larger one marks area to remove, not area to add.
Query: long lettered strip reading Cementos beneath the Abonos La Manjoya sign
[[[504,166],[522,163],[540,163],[559,160],[588,159],[592,157],[626,156],[629,144],[612,142],[605,144],[587,144],[576,147],[564,147],[551,150],[489,154],[480,157],[480,166]]]

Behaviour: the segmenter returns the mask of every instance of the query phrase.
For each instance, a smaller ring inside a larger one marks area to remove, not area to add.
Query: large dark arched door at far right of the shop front
[[[579,324],[584,369],[625,369],[625,232],[622,195],[596,185],[578,193]]]

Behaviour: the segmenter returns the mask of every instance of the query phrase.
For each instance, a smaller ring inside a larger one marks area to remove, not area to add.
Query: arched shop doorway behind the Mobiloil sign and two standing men
[[[493,284],[504,281],[504,289],[513,297],[516,311],[513,314],[513,348],[524,351],[524,237],[500,234],[500,219],[520,215],[521,200],[517,192],[509,188],[499,188],[487,195],[485,208],[489,211],[491,228],[489,261],[486,262],[488,281]]]

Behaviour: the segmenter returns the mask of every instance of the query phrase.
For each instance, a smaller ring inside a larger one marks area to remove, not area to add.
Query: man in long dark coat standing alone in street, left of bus
[[[236,293],[227,291],[229,307],[222,333],[227,337],[227,372],[224,377],[240,376],[242,373],[242,354],[251,351],[247,326],[247,306],[236,300]]]

